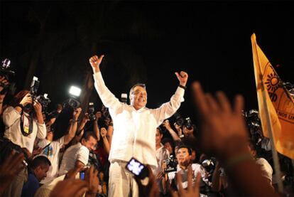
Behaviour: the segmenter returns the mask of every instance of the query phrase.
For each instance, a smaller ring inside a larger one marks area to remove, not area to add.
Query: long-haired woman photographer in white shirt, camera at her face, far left
[[[3,121],[6,129],[4,143],[1,144],[1,157],[4,159],[10,154],[11,149],[23,152],[26,158],[30,157],[36,137],[46,137],[42,105],[32,100],[28,90],[22,90],[13,97],[9,107],[4,111]],[[26,176],[27,171],[23,169],[6,190],[5,195],[20,196]]]

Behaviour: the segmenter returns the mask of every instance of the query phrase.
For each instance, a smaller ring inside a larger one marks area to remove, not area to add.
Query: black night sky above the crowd
[[[194,119],[190,84],[244,95],[257,108],[252,33],[278,75],[293,79],[294,4],[256,1],[1,1],[0,58],[11,59],[22,90],[36,57],[40,94],[50,108],[66,100],[70,85],[83,86],[89,57],[105,54],[102,75],[117,97],[136,82],[147,85],[147,107],[170,99],[174,72],[189,74],[183,117]],[[276,65],[279,65],[276,67]],[[101,101],[93,90],[90,101]]]

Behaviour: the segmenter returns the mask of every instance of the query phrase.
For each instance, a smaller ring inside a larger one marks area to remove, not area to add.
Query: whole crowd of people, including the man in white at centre
[[[9,82],[0,77],[0,196],[282,195],[273,185],[271,164],[249,140],[241,96],[231,105],[224,92],[214,97],[194,82],[199,124],[171,124],[190,91],[187,73],[175,73],[179,85],[169,102],[148,109],[144,84],[131,87],[130,105],[111,93],[99,69],[103,57],[94,55],[89,63],[109,116],[89,117],[74,107],[59,139],[54,128],[62,105],[46,116],[28,90],[4,102]],[[127,169],[132,158],[146,176]]]

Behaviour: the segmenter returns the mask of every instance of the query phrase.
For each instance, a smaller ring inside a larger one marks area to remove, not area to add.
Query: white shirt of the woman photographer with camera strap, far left
[[[13,144],[28,149],[30,153],[33,152],[33,143],[36,137],[45,139],[47,134],[45,123],[39,124],[36,119],[33,119],[33,132],[28,136],[24,136],[21,132],[21,115],[11,106],[7,107],[3,112],[3,122],[5,124],[4,137]],[[26,116],[23,116],[23,122],[24,124],[28,123]]]

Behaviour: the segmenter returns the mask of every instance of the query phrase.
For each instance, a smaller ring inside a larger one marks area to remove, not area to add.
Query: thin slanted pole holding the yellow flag
[[[254,35],[255,37],[255,35]],[[276,176],[276,180],[278,181],[278,191],[280,193],[283,193],[283,183],[281,181],[281,167],[280,167],[280,162],[278,161],[278,153],[276,150],[276,145],[274,143],[273,140],[273,127],[271,127],[271,116],[269,115],[268,112],[268,102],[266,101],[266,92],[265,87],[264,87],[264,83],[263,83],[263,77],[261,75],[261,66],[259,63],[259,57],[258,57],[258,53],[257,53],[257,47],[256,47],[256,39],[254,38],[254,49],[257,55],[257,62],[258,62],[258,69],[259,69],[259,73],[260,75],[258,76],[259,78],[261,78],[261,88],[262,88],[262,97],[263,97],[263,109],[266,111],[266,126],[268,128],[268,133],[270,136],[270,142],[271,142],[271,152],[273,154],[273,166],[275,169],[275,176]]]

